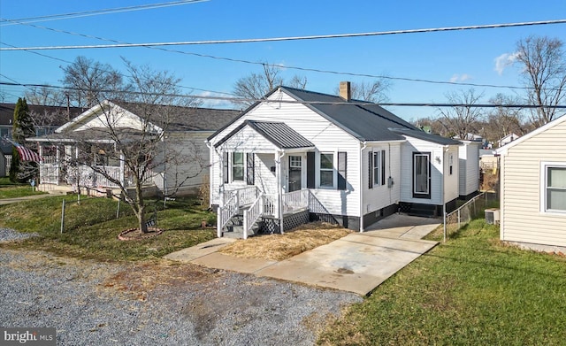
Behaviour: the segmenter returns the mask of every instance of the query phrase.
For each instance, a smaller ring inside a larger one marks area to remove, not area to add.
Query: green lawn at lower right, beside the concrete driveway
[[[518,250],[475,219],[348,308],[323,345],[562,345],[566,258]]]

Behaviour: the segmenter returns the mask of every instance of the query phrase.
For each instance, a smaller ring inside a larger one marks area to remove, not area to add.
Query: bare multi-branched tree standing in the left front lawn
[[[207,162],[198,152],[198,143],[184,141],[180,145],[175,141],[181,139],[170,132],[184,116],[186,107],[198,104],[195,98],[181,96],[180,80],[172,73],[154,71],[148,66],[134,66],[126,61],[126,67],[130,75],[129,93],[117,90],[113,95],[105,94],[111,96],[111,102],[98,98],[101,95],[96,92],[88,94],[96,97],[100,114],[96,126],[65,133],[73,139],[77,153],[68,158],[67,164],[71,180],[79,185],[96,186],[98,183],[93,180],[103,179],[118,187],[137,217],[138,228],[147,233],[144,183],[157,171],[166,175],[165,165],[172,165],[174,172],[174,167],[190,162],[194,167],[190,172],[172,174],[175,181],[170,181],[171,195],[201,173]],[[124,168],[124,178],[112,169],[117,165]],[[81,173],[80,166],[88,166],[94,174]]]

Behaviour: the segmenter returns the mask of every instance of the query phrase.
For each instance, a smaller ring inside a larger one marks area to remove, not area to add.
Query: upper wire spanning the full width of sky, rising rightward
[[[425,29],[379,31],[379,32],[360,33],[360,34],[287,36],[287,37],[250,38],[250,39],[233,39],[233,40],[210,40],[210,41],[116,43],[116,44],[91,44],[91,45],[75,45],[75,46],[38,46],[38,47],[21,47],[21,48],[0,48],[0,51],[2,51],[2,50],[92,50],[92,49],[101,49],[101,48],[134,48],[134,47],[149,47],[149,46],[151,46],[151,47],[163,47],[163,46],[180,46],[180,45],[207,45],[207,44],[252,43],[252,42],[302,41],[302,40],[321,40],[321,39],[362,37],[362,36],[432,33],[432,32],[439,32],[439,31],[477,30],[477,29],[490,29],[490,28],[500,28],[500,27],[526,27],[526,26],[564,24],[564,23],[566,23],[566,19],[529,21],[529,22],[507,23],[507,24],[488,24],[488,25],[480,25],[480,26],[468,26],[468,27],[434,27],[434,28],[425,28]]]

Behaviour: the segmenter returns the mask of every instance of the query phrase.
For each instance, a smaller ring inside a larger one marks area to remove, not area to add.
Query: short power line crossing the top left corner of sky
[[[28,23],[36,23],[42,21],[51,21],[51,20],[60,20],[60,19],[74,19],[74,18],[82,18],[82,17],[91,17],[91,16],[98,16],[101,14],[111,14],[111,13],[120,13],[120,12],[133,12],[133,11],[142,11],[142,10],[152,10],[156,8],[162,7],[171,7],[171,6],[179,6],[182,4],[195,4],[195,3],[203,3],[209,0],[181,0],[181,1],[173,1],[170,3],[159,3],[159,4],[140,4],[135,6],[127,6],[127,7],[118,7],[112,9],[104,9],[104,10],[92,10],[92,11],[84,11],[84,12],[71,12],[71,13],[62,13],[62,14],[50,14],[46,16],[38,16],[38,17],[28,17],[28,18],[20,18],[20,19],[0,19],[0,21],[8,22],[0,24],[0,27],[17,25],[17,24],[28,24]]]

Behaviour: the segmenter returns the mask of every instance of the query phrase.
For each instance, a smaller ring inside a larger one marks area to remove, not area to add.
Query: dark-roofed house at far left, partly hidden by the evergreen
[[[9,163],[11,162],[11,129],[13,127],[14,109],[16,104],[0,104],[0,176],[10,172]],[[42,106],[28,104],[32,119],[34,121],[36,135],[49,135],[67,121],[82,112],[76,107]]]

